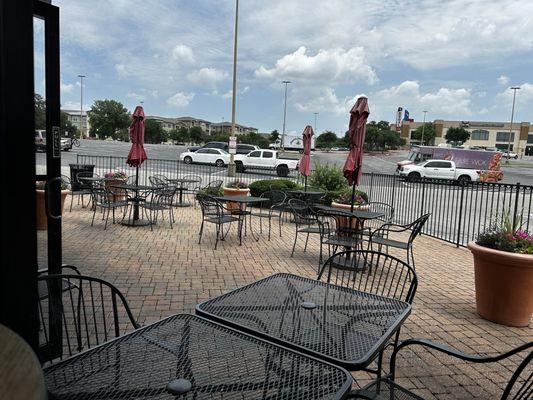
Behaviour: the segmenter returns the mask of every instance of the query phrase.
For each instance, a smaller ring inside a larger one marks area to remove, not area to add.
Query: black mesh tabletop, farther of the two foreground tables
[[[372,362],[411,306],[297,275],[276,274],[203,302],[196,312],[357,370]]]

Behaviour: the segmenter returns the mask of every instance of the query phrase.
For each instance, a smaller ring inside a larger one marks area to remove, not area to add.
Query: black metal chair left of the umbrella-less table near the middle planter
[[[198,244],[202,243],[202,234],[204,232],[204,225],[206,222],[216,226],[215,250],[217,249],[218,241],[226,238],[232,222],[237,222],[239,239],[241,238],[241,216],[234,215],[232,210],[224,207],[222,202],[218,201],[212,196],[199,194],[197,198],[202,210],[202,224],[200,226],[200,232],[198,233]],[[226,233],[224,233],[224,225],[228,225]]]

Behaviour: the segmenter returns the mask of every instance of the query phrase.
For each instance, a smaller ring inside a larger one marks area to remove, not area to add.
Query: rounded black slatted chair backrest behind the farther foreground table
[[[391,255],[348,250],[331,256],[318,280],[412,303],[418,285],[415,270]]]

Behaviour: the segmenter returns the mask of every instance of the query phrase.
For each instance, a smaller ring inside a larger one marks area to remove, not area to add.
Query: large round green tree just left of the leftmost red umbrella
[[[91,136],[98,135],[105,139],[111,136],[113,139],[124,139],[124,132],[131,123],[128,110],[122,103],[115,100],[95,100],[91,110],[87,112],[91,130]]]

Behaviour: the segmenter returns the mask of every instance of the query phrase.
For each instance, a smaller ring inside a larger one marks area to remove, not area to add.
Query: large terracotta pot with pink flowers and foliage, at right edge
[[[528,326],[533,313],[533,235],[501,223],[468,243],[474,256],[478,314],[507,326]]]

